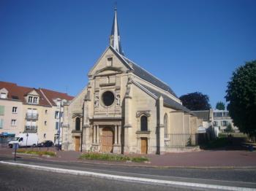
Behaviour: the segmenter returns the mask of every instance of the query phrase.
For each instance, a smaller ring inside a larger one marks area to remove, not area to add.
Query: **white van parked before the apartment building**
[[[8,143],[9,147],[12,148],[13,144],[19,144],[19,147],[33,146],[36,147],[38,144],[37,133],[20,133],[15,136],[13,141]]]

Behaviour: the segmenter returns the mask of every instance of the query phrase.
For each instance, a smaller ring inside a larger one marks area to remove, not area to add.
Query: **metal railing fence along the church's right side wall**
[[[191,147],[197,144],[197,134],[168,134],[165,138],[165,147]]]

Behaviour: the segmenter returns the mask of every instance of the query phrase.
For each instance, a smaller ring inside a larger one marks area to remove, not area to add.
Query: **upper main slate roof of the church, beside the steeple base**
[[[167,84],[165,84],[165,82],[162,82],[160,79],[157,79],[157,77],[154,77],[148,71],[146,71],[145,69],[138,66],[138,64],[130,61],[128,58],[126,58],[122,55],[121,55],[121,57],[124,58],[124,60],[127,61],[127,63],[129,63],[132,66],[133,73],[136,76],[146,80],[147,82],[150,82],[153,85],[156,85],[157,87],[160,87],[162,90],[165,90],[165,91],[169,92],[171,95],[178,98],[177,95],[173,92],[173,90]]]

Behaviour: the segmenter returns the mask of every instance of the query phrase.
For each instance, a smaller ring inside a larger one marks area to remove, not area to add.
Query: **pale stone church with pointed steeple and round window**
[[[124,55],[115,9],[108,48],[64,106],[62,149],[164,154],[197,145],[200,120],[173,90]]]

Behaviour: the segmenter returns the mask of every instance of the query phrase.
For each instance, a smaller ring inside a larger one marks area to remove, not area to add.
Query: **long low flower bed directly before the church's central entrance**
[[[135,163],[142,163],[148,161],[147,157],[129,157],[125,155],[104,154],[96,152],[83,153],[82,155],[80,155],[79,158],[89,160],[132,161]]]

